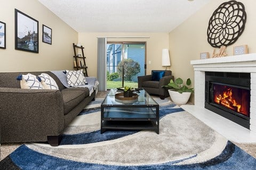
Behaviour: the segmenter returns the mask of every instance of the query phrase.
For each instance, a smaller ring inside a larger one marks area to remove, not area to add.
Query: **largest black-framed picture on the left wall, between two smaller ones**
[[[15,9],[15,49],[38,53],[38,21]]]

